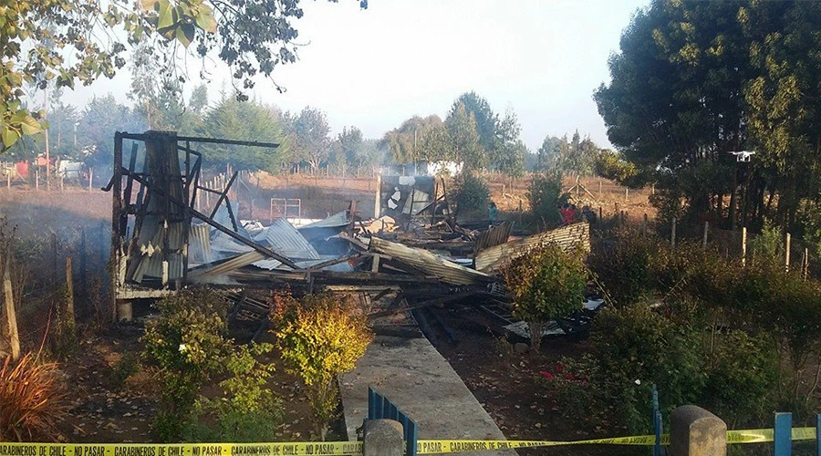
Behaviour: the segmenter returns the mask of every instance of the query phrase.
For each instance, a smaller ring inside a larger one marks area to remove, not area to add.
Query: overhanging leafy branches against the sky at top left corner
[[[335,2],[336,0],[330,0]],[[367,1],[359,5],[366,8]],[[292,21],[299,0],[29,0],[0,5],[0,138],[7,150],[43,130],[44,112],[26,109],[24,86],[74,88],[113,78],[127,47],[161,48],[161,71],[184,82],[177,63],[186,54],[223,60],[244,89],[256,75],[296,61]],[[182,45],[182,48],[179,46]],[[279,88],[277,86],[277,88]],[[282,89],[282,88],[279,88]],[[245,99],[242,92],[237,95]]]

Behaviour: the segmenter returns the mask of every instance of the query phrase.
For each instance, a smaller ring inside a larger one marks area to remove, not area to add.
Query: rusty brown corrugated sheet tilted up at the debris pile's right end
[[[556,228],[556,230],[534,234],[505,244],[495,245],[476,254],[474,264],[477,270],[493,274],[498,271],[499,266],[501,266],[505,260],[514,259],[525,254],[529,249],[532,249],[538,244],[544,243],[556,243],[565,250],[570,250],[580,245],[589,252],[590,225],[587,224],[587,222],[574,223]]]

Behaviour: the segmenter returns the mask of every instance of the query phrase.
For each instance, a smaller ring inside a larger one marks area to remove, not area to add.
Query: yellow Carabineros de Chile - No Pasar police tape
[[[727,443],[773,441],[772,429],[728,430]],[[815,440],[816,428],[793,428],[793,440]],[[655,436],[637,435],[591,440],[418,440],[419,454],[498,451],[562,445],[653,445]],[[670,444],[670,435],[661,436]],[[3,443],[0,456],[347,456],[362,454],[361,441],[295,441],[282,443]]]

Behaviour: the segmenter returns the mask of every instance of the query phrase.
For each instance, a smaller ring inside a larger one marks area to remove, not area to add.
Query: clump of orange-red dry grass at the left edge
[[[0,368],[0,441],[57,435],[57,421],[68,406],[57,363],[26,353]]]

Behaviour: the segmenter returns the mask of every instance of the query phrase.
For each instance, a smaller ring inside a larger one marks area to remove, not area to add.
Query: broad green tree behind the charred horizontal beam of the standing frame
[[[283,134],[279,111],[255,101],[223,99],[205,114],[198,134],[227,140],[256,140],[279,144],[276,149],[214,144],[208,150],[208,163],[224,167],[231,163],[236,170],[277,172],[289,157],[290,148]]]

